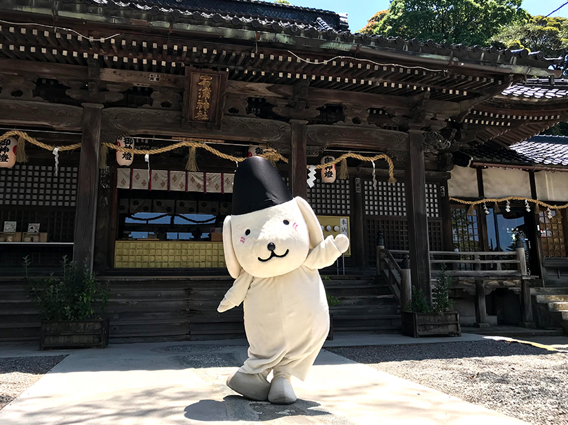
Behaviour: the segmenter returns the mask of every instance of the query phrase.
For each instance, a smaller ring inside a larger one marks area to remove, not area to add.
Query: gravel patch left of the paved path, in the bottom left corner
[[[65,355],[0,359],[0,410],[39,381]]]

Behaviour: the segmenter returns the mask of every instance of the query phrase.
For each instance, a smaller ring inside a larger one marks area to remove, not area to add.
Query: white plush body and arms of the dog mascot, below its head
[[[329,332],[326,291],[317,269],[341,255],[330,236],[304,264],[282,276],[254,278],[242,271],[225,298],[244,300],[244,329],[249,358],[242,373],[274,369],[306,379]]]

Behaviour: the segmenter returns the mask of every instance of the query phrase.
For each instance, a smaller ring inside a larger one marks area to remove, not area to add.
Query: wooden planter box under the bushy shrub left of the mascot
[[[39,349],[105,348],[109,343],[109,320],[41,322]]]

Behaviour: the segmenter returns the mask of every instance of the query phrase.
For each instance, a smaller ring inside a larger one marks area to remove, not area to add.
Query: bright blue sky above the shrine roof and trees
[[[549,14],[558,8],[566,0],[525,0],[523,8],[530,14]],[[356,32],[363,28],[367,20],[379,10],[388,9],[390,1],[366,1],[366,0],[290,0],[295,6],[304,6],[306,8],[317,8],[325,10],[333,10],[338,13],[347,13],[349,19],[349,29]],[[568,5],[558,10],[552,16],[568,17]]]

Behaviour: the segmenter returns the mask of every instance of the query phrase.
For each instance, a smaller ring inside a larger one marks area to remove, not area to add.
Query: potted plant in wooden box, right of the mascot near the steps
[[[460,336],[459,313],[452,311],[453,300],[450,299],[452,279],[445,273],[442,265],[436,286],[432,290],[432,304],[417,287],[412,287],[412,300],[402,312],[403,335],[419,338],[422,336],[452,335]]]

